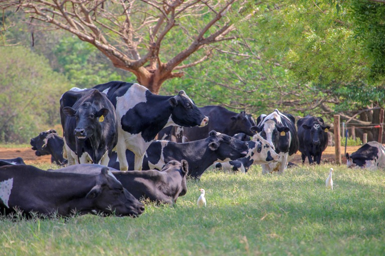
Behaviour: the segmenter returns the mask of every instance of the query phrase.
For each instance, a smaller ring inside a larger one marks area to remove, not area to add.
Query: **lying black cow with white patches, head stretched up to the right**
[[[143,169],[161,169],[170,159],[188,162],[188,175],[200,178],[215,161],[229,161],[246,155],[247,142],[211,131],[209,137],[185,143],[156,140],[146,151]]]

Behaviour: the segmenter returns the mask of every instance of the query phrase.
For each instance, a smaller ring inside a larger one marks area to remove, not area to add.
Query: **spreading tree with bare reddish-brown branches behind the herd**
[[[33,26],[49,23],[75,34],[103,52],[115,67],[134,73],[140,84],[158,93],[165,80],[182,76],[184,68],[206,59],[217,42],[234,38],[229,16],[239,14],[241,3],[236,3],[15,0],[3,7],[28,13]]]

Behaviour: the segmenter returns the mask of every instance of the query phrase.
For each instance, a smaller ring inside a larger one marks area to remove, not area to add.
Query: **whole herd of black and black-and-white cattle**
[[[183,90],[162,96],[121,81],[65,92],[60,117],[63,137],[43,131],[31,145],[63,167],[0,159],[0,214],[137,216],[140,199],[175,203],[186,177],[199,179],[210,166],[246,172],[262,164],[263,173],[283,173],[298,150],[303,163],[319,164],[330,128],[309,115],[295,123],[278,109],[255,122],[244,111],[197,107]],[[346,157],[348,166],[385,166],[385,149],[373,141]]]

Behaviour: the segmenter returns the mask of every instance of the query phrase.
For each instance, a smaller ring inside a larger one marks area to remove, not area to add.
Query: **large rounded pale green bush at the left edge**
[[[0,55],[0,142],[26,143],[60,122],[59,98],[70,85],[26,47],[0,47]]]

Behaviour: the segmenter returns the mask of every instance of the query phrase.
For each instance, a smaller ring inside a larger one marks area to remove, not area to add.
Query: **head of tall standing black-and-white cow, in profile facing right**
[[[193,127],[205,126],[209,122],[209,117],[202,114],[201,110],[195,105],[184,90],[179,91],[176,96],[168,99],[172,110],[171,119],[180,126]]]

